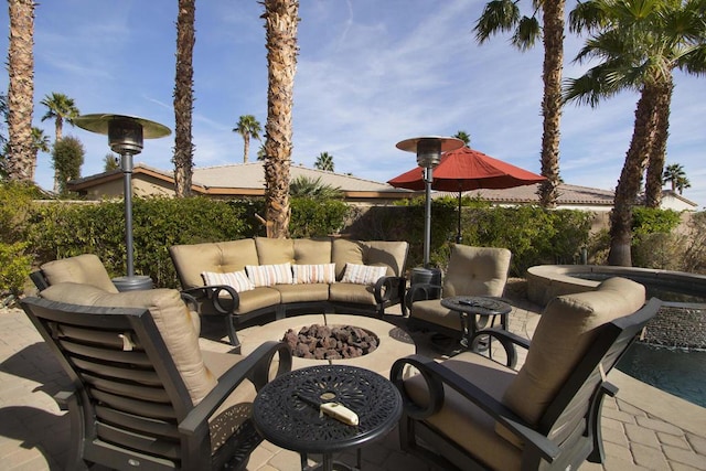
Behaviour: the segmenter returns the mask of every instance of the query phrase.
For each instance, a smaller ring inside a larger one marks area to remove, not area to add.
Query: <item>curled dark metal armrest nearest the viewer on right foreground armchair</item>
[[[427,383],[429,404],[426,407],[415,404],[406,394],[404,372],[407,365],[417,368]],[[445,400],[443,387],[448,386],[481,408],[512,433],[516,435],[525,443],[525,447],[534,449],[534,451],[547,462],[553,462],[560,453],[560,449],[556,443],[534,430],[499,399],[489,395],[453,371],[445,367],[442,363],[437,363],[422,355],[409,355],[397,360],[393,364],[389,376],[391,381],[397,386],[397,389],[402,394],[405,414],[415,420],[424,420],[441,409]]]

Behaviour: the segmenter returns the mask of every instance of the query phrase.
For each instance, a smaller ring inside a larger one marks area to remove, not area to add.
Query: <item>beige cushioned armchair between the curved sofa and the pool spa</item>
[[[461,318],[458,312],[442,307],[441,298],[501,297],[505,290],[511,258],[512,254],[506,248],[451,245],[442,283],[415,283],[409,287],[406,297],[409,328],[430,330],[461,340]],[[475,319],[470,321],[475,322]]]

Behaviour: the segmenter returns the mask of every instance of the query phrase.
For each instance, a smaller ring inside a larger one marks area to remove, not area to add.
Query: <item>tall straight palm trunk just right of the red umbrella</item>
[[[559,122],[561,119],[561,67],[564,63],[564,0],[545,1],[544,11],[544,98],[542,115],[542,175],[539,204],[556,207],[559,197]]]

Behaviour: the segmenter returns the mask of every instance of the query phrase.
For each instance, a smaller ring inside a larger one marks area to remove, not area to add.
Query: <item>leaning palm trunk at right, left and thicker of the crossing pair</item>
[[[635,126],[630,148],[625,156],[620,180],[616,186],[613,210],[610,213],[610,251],[608,264],[623,267],[632,266],[630,251],[632,242],[632,206],[635,204],[642,172],[654,132],[655,117],[652,110],[657,104],[659,92],[645,86],[635,109]]]

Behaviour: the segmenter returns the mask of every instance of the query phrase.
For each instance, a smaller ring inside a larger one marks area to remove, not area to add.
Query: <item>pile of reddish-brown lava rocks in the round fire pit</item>
[[[300,358],[341,360],[366,355],[379,343],[377,336],[353,325],[320,325],[289,329],[282,338],[292,355]]]

